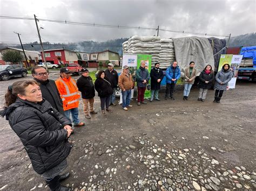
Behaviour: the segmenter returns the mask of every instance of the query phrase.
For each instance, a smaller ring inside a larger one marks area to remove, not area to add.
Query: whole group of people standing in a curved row
[[[160,101],[158,92],[163,80],[163,70],[159,63],[155,63],[151,72],[145,68],[143,61],[136,71],[138,85],[137,104],[146,104],[144,93],[151,78],[151,98]],[[123,72],[118,76],[113,69],[112,63],[108,68],[100,70],[97,74],[95,84],[89,76],[86,68],[81,70],[81,76],[77,81],[73,80],[68,68],[60,69],[60,77],[56,81],[49,79],[49,74],[43,67],[35,66],[31,70],[33,79],[14,82],[8,87],[5,94],[5,108],[1,116],[9,121],[12,130],[21,139],[26,152],[29,155],[33,169],[42,174],[51,190],[71,190],[69,187],[60,185],[60,181],[69,177],[70,173],[60,175],[68,165],[68,157],[72,145],[68,139],[73,133],[73,126],[84,126],[78,118],[78,105],[80,93],[82,94],[84,114],[87,119],[97,114],[93,109],[95,89],[100,97],[102,115],[112,112],[109,106],[116,105],[115,89],[117,86],[122,90],[124,110],[131,108],[131,90],[134,87],[129,67],[124,66]],[[185,69],[184,100],[188,99],[190,89],[194,83],[197,71],[194,62]],[[174,100],[173,90],[180,77],[180,69],[175,61],[166,70],[166,93]],[[228,81],[231,80],[232,72],[229,65],[223,68],[215,76],[215,98],[219,103]],[[207,90],[211,88],[214,81],[212,67],[207,65],[199,75],[199,98],[204,101]],[[70,119],[72,116],[72,122]]]

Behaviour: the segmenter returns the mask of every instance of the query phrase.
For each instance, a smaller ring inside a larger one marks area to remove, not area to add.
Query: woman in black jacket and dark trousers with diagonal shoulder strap
[[[105,76],[103,70],[99,70],[97,79],[95,80],[95,89],[98,92],[98,96],[100,98],[100,107],[102,108],[102,116],[106,116],[105,113],[105,105],[106,111],[112,112],[109,109],[109,100],[110,96],[113,94],[112,84],[109,79]]]

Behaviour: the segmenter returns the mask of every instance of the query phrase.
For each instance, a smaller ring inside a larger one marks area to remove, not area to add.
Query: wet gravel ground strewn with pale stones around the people
[[[26,78],[30,78],[28,76]],[[51,75],[56,79],[57,74]],[[74,76],[77,79],[77,76]],[[0,81],[1,105],[7,87],[16,80]],[[137,106],[129,111],[117,105],[113,113],[98,114],[76,128],[68,157],[73,190],[256,190],[255,113],[256,84],[238,82],[213,103],[214,91],[198,102],[193,87],[183,101],[183,87],[176,100]],[[135,99],[134,99],[135,100]],[[23,145],[5,119],[0,119],[0,190],[49,190],[36,174]]]

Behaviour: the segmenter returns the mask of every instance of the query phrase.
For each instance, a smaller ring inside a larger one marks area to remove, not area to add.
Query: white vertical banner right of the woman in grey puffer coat
[[[242,55],[233,55],[231,60],[231,70],[233,72],[233,77],[231,81],[228,82],[228,89],[235,88],[235,82],[237,82],[238,69],[242,60]]]

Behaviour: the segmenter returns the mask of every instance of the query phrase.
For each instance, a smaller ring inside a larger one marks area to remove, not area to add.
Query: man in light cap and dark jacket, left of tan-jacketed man
[[[118,74],[117,71],[114,70],[113,64],[110,62],[107,64],[107,69],[105,70],[105,75],[109,78],[110,82],[112,83],[113,94],[110,96],[109,105],[116,106],[116,90],[118,84]]]

